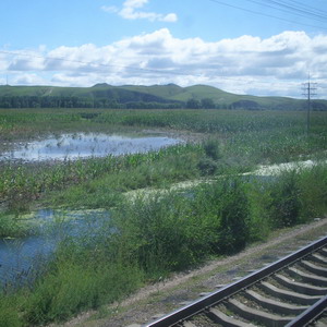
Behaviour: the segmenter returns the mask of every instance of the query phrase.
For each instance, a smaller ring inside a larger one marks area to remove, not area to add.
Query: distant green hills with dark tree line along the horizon
[[[0,108],[105,107],[105,108],[218,108],[249,110],[303,110],[305,100],[288,97],[237,95],[207,85],[123,85],[92,87],[0,86]],[[327,110],[327,100],[313,101],[314,110]]]

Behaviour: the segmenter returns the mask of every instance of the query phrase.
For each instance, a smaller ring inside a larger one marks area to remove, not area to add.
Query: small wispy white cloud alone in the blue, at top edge
[[[121,9],[114,5],[102,5],[101,10],[109,13],[118,13],[125,20],[148,20],[150,22],[159,21],[174,23],[178,21],[175,13],[160,14],[155,12],[141,11],[148,3],[148,0],[126,0]]]

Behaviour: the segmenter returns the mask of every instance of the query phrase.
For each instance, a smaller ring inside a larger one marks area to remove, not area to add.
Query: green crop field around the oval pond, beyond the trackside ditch
[[[11,213],[47,205],[116,205],[123,191],[229,171],[257,164],[325,156],[327,114],[312,113],[310,136],[304,112],[226,110],[0,110],[0,138],[29,140],[47,133],[126,132],[164,128],[196,133],[197,145],[159,153],[52,164],[0,164],[0,197]],[[101,191],[102,190],[102,191]]]

